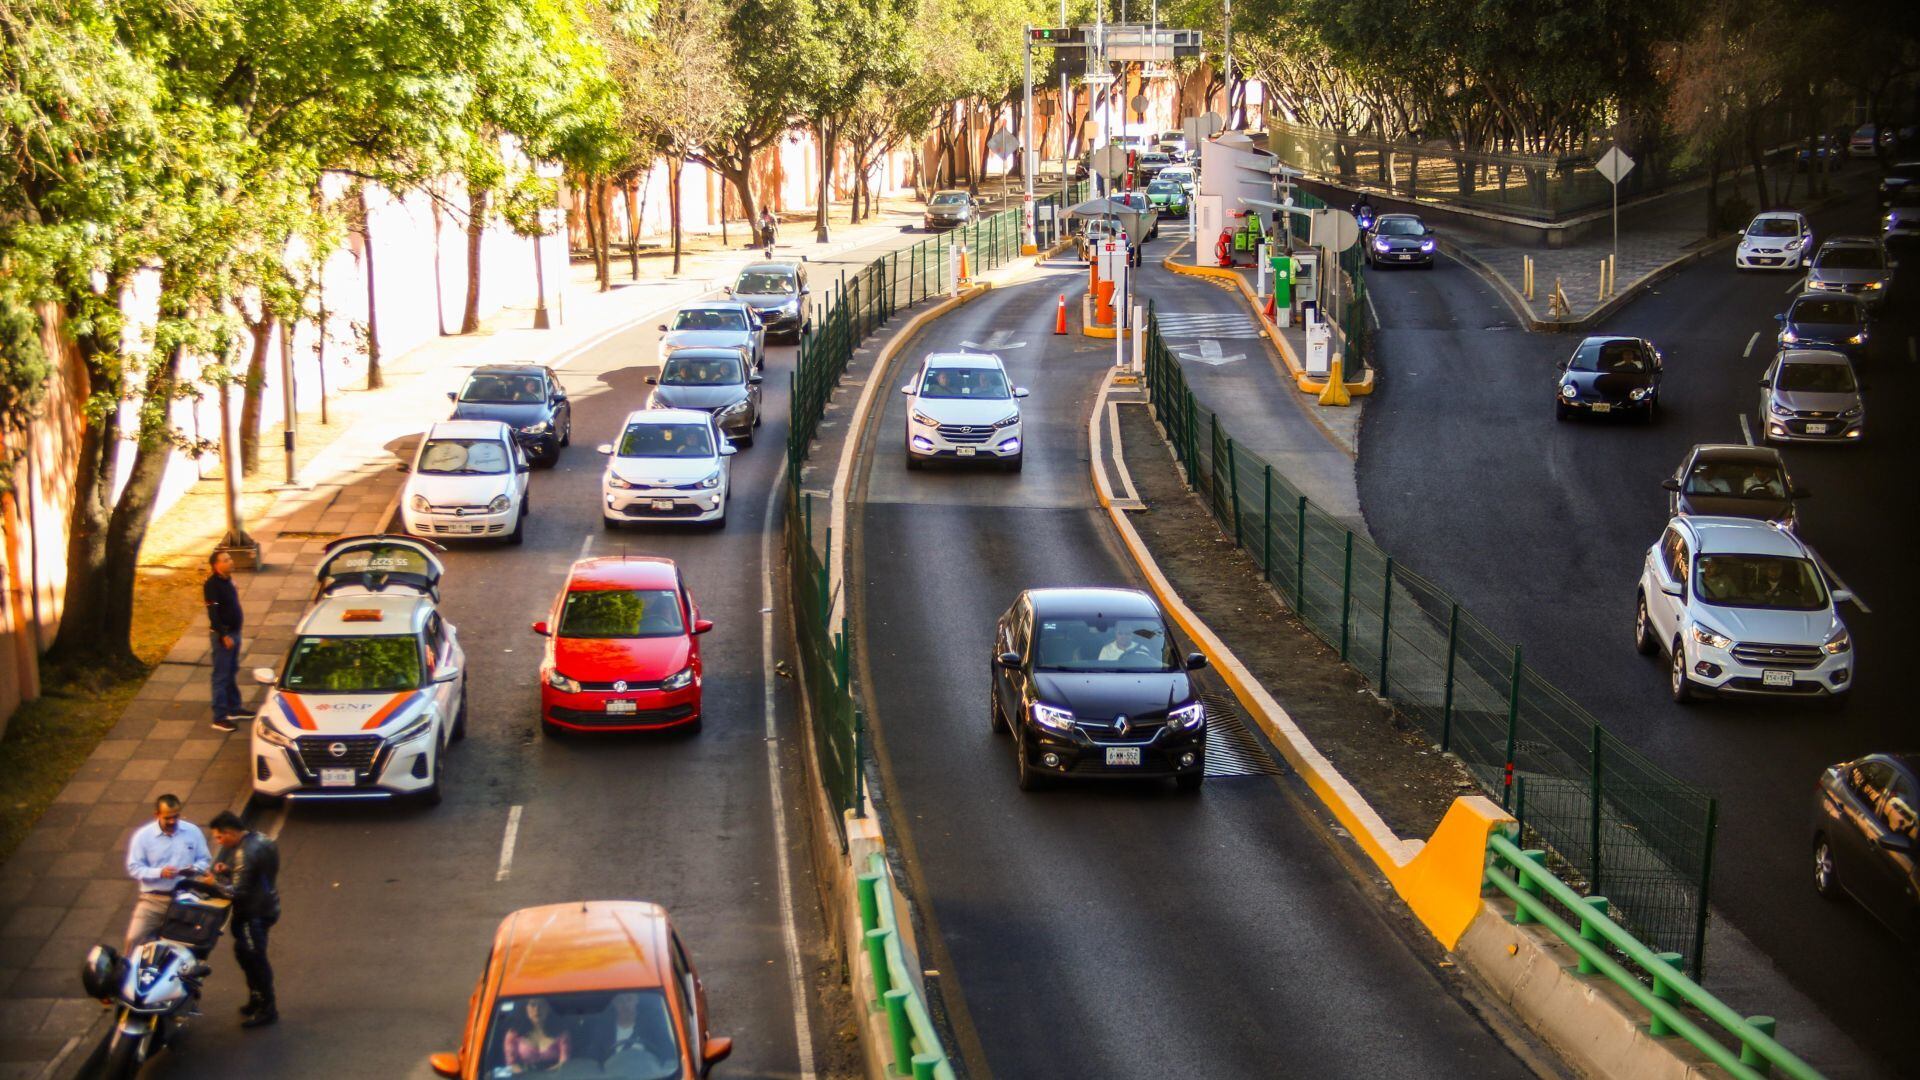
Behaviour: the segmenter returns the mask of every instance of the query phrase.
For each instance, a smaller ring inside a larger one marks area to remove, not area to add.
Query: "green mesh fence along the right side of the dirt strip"
[[[1146,386],[1187,482],[1261,578],[1455,755],[1578,888],[1699,976],[1715,799],[1617,740],[1436,584],[1313,505],[1194,400],[1148,313]]]

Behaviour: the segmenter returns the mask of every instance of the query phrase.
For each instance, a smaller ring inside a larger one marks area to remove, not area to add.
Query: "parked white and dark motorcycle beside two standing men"
[[[207,957],[221,940],[232,890],[207,878],[184,878],[167,903],[167,919],[152,942],[119,955],[94,945],[81,967],[81,986],[115,1009],[113,1024],[94,1051],[88,1076],[129,1080],[140,1067],[179,1042],[200,1015],[200,988],[213,967]]]

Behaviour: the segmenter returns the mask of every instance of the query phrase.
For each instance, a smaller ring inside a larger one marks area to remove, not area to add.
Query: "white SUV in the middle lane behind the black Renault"
[[[1000,357],[985,352],[937,352],[920,375],[900,386],[906,394],[906,467],[920,469],[935,457],[991,459],[1020,471],[1020,398]]]

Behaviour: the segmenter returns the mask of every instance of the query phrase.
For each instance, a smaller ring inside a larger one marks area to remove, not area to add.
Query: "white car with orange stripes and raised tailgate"
[[[409,536],[326,546],[313,607],[253,719],[253,794],[269,801],[440,801],[467,734],[467,653],[440,617],[440,548]]]

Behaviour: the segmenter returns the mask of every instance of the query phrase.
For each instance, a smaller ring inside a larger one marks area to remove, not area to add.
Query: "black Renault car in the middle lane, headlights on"
[[[1014,736],[1020,790],[1052,778],[1173,776],[1200,790],[1206,705],[1160,605],[1129,588],[1031,588],[1000,615],[993,730]]]

